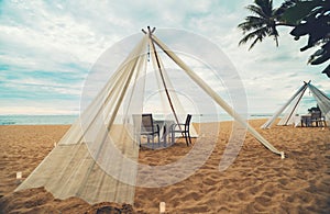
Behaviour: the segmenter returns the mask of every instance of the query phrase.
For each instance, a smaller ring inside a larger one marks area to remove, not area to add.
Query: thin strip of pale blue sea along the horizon
[[[69,125],[73,124],[79,115],[0,115],[0,125]],[[272,114],[250,114],[249,120],[268,119]],[[228,114],[197,114],[193,115],[193,122],[221,122],[233,121]]]

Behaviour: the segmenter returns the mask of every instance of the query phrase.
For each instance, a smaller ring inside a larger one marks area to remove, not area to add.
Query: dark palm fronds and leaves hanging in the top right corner
[[[308,64],[327,64],[330,58],[330,1],[329,0],[286,0],[278,8],[273,8],[272,0],[254,0],[246,7],[252,13],[238,27],[243,33],[239,45],[252,41],[249,49],[265,37],[273,37],[278,46],[278,26],[293,27],[290,35],[298,41],[307,36],[305,52],[311,47],[317,50],[310,55]],[[330,78],[330,65],[322,70]]]

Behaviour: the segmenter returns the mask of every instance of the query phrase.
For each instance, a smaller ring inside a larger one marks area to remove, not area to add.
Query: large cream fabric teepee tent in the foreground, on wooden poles
[[[187,114],[175,93],[157,48],[199,86],[205,94],[246,127],[262,145],[284,158],[283,151],[277,150],[250,126],[175,52],[154,35],[154,30],[148,29],[58,145],[15,191],[45,187],[58,199],[78,196],[88,203],[133,203],[140,170],[136,164],[140,136],[135,133],[141,124],[133,124],[132,116],[143,113],[143,94],[147,83],[145,79],[148,76],[146,65],[150,58],[154,64],[160,97],[166,109],[164,112],[169,112],[166,115],[175,122],[183,122]],[[161,170],[161,173],[166,173],[166,170]],[[154,178],[156,179],[158,178]]]

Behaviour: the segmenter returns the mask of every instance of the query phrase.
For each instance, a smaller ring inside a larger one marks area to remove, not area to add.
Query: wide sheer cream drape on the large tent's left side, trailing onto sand
[[[45,187],[58,199],[133,203],[139,145],[128,119],[142,114],[143,81],[138,80],[145,76],[146,44],[144,36],[16,191]]]

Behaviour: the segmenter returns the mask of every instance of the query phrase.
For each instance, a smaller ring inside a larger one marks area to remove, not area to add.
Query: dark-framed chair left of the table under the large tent
[[[139,117],[138,117],[139,116]],[[141,116],[141,119],[140,119]],[[160,125],[155,125],[153,121],[153,115],[152,114],[142,114],[142,115],[133,115],[134,124],[139,124],[141,120],[141,129],[139,133],[139,137],[141,135],[146,136],[147,138],[147,144],[150,144],[150,140],[152,140],[154,145],[154,138],[155,136],[158,137],[158,144],[160,144]],[[141,146],[141,143],[140,143]]]

